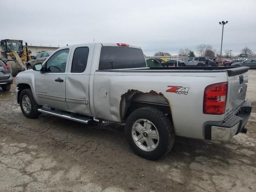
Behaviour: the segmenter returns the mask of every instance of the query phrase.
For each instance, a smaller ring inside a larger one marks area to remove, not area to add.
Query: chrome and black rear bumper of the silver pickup
[[[251,102],[244,102],[221,123],[208,122],[204,126],[204,138],[210,140],[230,140],[234,135],[245,132],[244,128],[251,114]]]

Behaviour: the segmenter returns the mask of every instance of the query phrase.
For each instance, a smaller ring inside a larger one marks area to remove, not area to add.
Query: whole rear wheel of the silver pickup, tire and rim
[[[162,111],[145,107],[135,110],[126,120],[125,136],[132,150],[143,158],[165,156],[174,144],[173,126]]]

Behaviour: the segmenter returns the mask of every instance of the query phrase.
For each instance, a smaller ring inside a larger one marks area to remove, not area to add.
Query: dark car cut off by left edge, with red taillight
[[[9,91],[13,82],[12,75],[10,73],[10,66],[0,59],[0,87],[4,91]]]

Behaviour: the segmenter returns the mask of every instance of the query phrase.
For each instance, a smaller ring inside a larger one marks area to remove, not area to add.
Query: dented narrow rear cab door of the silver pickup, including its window
[[[92,116],[89,78],[94,44],[74,46],[66,75],[66,102],[70,112]]]

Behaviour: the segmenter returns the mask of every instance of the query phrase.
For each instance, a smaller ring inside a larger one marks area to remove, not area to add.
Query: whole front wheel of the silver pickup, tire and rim
[[[30,119],[37,118],[41,113],[38,112],[38,104],[34,99],[31,89],[24,89],[20,93],[20,108],[24,116]]]

